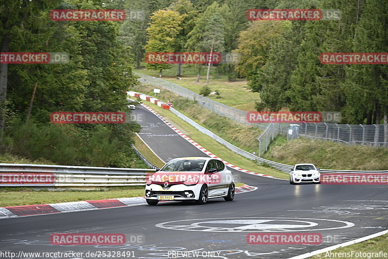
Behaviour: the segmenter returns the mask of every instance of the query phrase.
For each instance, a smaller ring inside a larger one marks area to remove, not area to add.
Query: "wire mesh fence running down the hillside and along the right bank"
[[[296,123],[251,123],[247,121],[248,112],[242,111],[225,104],[218,103],[207,97],[201,96],[189,89],[168,82],[161,78],[135,73],[140,76],[141,83],[162,87],[189,100],[196,101],[202,107],[225,116],[242,125],[256,127],[263,130],[257,138],[259,140],[259,156],[268,150],[271,141],[281,134],[287,139],[314,138],[334,141],[345,144],[362,144],[373,147],[388,147],[388,124],[350,125],[325,122],[298,122]]]

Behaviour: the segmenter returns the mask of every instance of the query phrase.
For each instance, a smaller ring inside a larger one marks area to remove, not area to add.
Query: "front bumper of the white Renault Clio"
[[[149,200],[159,200],[159,195],[174,196],[174,201],[198,200],[201,185],[186,186],[184,184],[173,185],[168,189],[162,186],[151,184],[146,186],[145,197]]]

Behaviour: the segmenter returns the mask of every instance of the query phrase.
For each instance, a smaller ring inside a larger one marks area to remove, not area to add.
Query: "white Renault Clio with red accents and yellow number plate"
[[[147,178],[146,201],[195,201],[205,204],[208,199],[224,197],[232,201],[235,195],[233,174],[223,161],[211,157],[175,158]]]

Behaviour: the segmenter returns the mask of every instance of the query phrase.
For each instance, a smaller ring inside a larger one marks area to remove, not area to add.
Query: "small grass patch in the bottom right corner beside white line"
[[[310,257],[310,259],[323,259],[323,258],[330,258],[330,259],[340,259],[340,258],[352,258],[352,259],[365,259],[365,258],[387,258],[387,257],[379,257],[379,256],[368,256],[368,253],[379,253],[379,251],[383,251],[383,253],[387,253],[387,247],[388,247],[388,234],[382,235],[377,238],[372,238],[370,240],[352,244],[346,247],[341,247],[338,249],[335,249],[330,252],[322,253],[321,257],[313,256]],[[352,251],[354,252],[353,257],[351,257]],[[332,254],[333,253],[333,254]],[[335,254],[337,253],[337,254]],[[342,253],[342,254],[339,254]],[[349,254],[346,254],[349,253]],[[356,257],[356,253],[361,253],[361,256]],[[362,256],[362,253],[367,253],[366,256]]]

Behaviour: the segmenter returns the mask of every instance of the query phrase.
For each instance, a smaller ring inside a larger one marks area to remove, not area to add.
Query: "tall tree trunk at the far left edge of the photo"
[[[3,20],[2,26],[5,27],[6,20]],[[9,34],[5,33],[1,40],[0,52],[8,52],[9,50]],[[3,141],[5,110],[7,101],[7,79],[8,79],[8,64],[0,64],[0,144]]]

